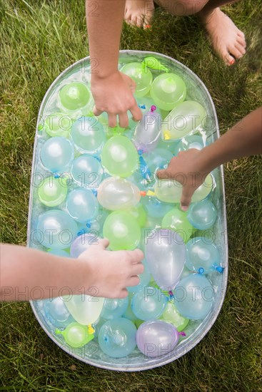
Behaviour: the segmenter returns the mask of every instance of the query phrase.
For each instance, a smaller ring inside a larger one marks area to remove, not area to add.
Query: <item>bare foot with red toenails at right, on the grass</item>
[[[235,58],[241,58],[246,53],[244,33],[221,9],[213,9],[208,14],[200,11],[198,15],[206,27],[214,51],[223,58],[226,65],[231,66]]]

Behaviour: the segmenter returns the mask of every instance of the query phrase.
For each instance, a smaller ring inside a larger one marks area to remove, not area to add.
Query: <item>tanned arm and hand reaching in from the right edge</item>
[[[184,175],[181,196],[182,210],[188,210],[193,192],[198,188],[205,175],[215,167],[229,160],[262,153],[262,107],[254,110],[233,126],[216,142],[196,150],[182,151],[171,159],[167,169],[158,170],[158,177],[174,178],[179,181]]]

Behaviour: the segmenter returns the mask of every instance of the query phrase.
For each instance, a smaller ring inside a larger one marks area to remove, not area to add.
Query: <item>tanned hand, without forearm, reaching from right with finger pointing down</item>
[[[193,192],[204,182],[208,172],[202,165],[201,151],[191,148],[178,153],[166,169],[158,170],[156,174],[161,180],[173,179],[183,185],[180,205],[181,210],[186,211]]]

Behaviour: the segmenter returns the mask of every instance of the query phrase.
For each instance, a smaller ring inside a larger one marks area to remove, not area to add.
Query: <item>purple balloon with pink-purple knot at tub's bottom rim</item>
[[[138,349],[151,358],[168,354],[178,344],[179,335],[176,327],[166,321],[145,321],[136,332]]]

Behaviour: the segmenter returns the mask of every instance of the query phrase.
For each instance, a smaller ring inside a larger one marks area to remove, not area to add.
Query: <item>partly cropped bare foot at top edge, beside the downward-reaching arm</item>
[[[153,0],[126,0],[125,21],[131,26],[151,27]]]

